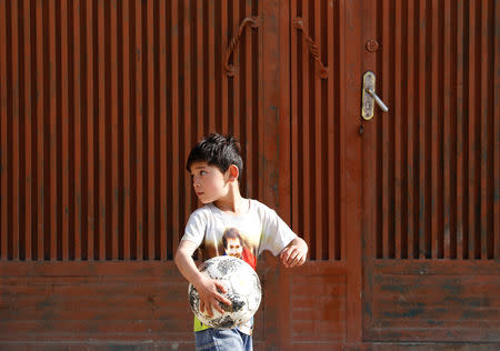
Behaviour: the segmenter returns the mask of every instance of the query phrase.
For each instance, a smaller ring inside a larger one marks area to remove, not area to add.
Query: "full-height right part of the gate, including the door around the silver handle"
[[[311,262],[281,275],[281,345],[498,344],[497,1],[288,4],[290,213]],[[367,71],[390,109],[371,121]]]

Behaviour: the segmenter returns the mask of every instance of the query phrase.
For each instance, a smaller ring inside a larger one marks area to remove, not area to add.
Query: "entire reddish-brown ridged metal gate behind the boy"
[[[210,131],[310,247],[258,350],[499,347],[496,0],[0,0],[0,349],[193,348]],[[366,72],[372,119],[361,118]],[[419,342],[422,342],[419,345]]]

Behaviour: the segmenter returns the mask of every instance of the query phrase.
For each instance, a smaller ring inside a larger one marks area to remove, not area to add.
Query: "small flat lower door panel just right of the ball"
[[[349,343],[346,264],[309,262],[280,272],[280,350],[341,350]]]

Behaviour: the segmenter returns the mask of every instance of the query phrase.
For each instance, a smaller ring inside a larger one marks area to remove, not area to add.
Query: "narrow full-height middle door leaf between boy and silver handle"
[[[359,48],[347,38],[359,4],[289,1],[292,229],[310,261],[281,270],[282,350],[341,350],[361,340],[359,235]],[[283,62],[283,61],[282,61]],[[349,70],[348,70],[349,69]],[[348,199],[348,197],[350,197]]]

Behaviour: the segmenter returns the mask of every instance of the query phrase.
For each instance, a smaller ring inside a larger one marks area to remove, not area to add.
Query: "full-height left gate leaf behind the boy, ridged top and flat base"
[[[268,72],[278,89],[262,64],[264,9],[0,1],[0,344],[192,349],[187,283],[171,262],[198,207],[190,148],[236,134],[243,194],[278,203],[279,103],[258,79]]]

